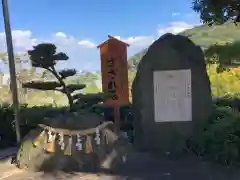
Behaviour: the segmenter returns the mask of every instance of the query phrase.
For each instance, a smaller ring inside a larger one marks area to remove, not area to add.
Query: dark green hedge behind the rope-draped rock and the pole
[[[121,118],[129,112],[131,107],[125,105],[120,107]],[[20,106],[20,129],[21,135],[25,136],[31,129],[36,128],[46,117],[54,117],[67,110],[67,107],[56,108],[52,106],[35,106],[28,108],[27,105]],[[105,112],[107,116],[112,115],[111,108],[102,105],[94,106],[92,111],[101,114]],[[13,108],[9,104],[0,105],[0,148],[10,146],[16,142],[15,122]]]

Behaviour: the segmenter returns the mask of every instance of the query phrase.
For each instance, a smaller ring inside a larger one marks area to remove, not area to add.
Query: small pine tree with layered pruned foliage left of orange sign
[[[69,57],[63,52],[57,52],[54,44],[42,43],[28,51],[31,64],[35,68],[43,68],[56,77],[56,81],[30,81],[23,83],[23,88],[37,90],[55,90],[62,92],[68,98],[70,112],[78,108],[91,107],[92,105],[102,102],[109,97],[104,93],[82,94],[78,90],[84,89],[85,84],[66,84],[65,79],[76,75],[75,69],[63,69],[57,71],[55,66],[59,61],[67,61]]]

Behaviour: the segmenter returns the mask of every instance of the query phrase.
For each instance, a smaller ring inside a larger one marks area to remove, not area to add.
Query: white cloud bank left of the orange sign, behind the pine
[[[79,70],[99,69],[98,52],[93,48],[95,45],[93,42],[79,40],[63,32],[57,32],[46,39],[36,38],[29,30],[13,30],[12,38],[15,52],[26,52],[32,46],[42,42],[54,43],[58,51],[65,52],[69,56],[69,61],[61,62],[61,68],[67,66],[68,68],[77,68]],[[0,32],[0,52],[6,51],[5,33]]]

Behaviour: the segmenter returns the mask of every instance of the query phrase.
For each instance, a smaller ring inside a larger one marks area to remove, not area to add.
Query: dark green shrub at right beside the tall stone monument
[[[203,135],[191,143],[191,150],[199,156],[225,165],[240,160],[240,114],[231,107],[215,105]]]

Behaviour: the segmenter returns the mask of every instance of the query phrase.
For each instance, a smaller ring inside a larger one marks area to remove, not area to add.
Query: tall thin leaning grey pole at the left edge
[[[10,72],[10,80],[11,80],[10,89],[12,92],[12,103],[14,108],[17,143],[19,144],[21,140],[20,127],[19,127],[20,114],[19,114],[19,102],[18,102],[18,92],[17,92],[16,69],[15,69],[13,43],[12,43],[12,32],[11,32],[11,26],[10,26],[10,20],[9,20],[7,0],[2,0],[2,9],[3,9],[3,18],[4,18],[8,61],[9,61],[9,72]]]

